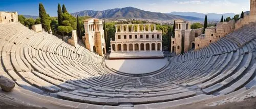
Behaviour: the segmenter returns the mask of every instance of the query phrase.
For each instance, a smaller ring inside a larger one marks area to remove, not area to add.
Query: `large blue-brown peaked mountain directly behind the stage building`
[[[186,15],[172,15],[159,12],[144,11],[133,7],[115,8],[103,11],[84,10],[72,13],[73,16],[91,16],[94,18],[142,18],[142,19],[159,19],[159,20],[172,20],[172,19],[186,19],[186,20],[203,20],[195,16]]]

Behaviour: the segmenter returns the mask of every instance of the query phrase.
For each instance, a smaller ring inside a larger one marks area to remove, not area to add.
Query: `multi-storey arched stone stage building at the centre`
[[[111,52],[161,52],[162,31],[155,24],[115,25],[115,40],[111,39]]]

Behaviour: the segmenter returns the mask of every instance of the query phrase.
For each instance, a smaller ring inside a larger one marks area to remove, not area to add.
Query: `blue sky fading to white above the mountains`
[[[168,13],[241,13],[248,11],[250,0],[0,0],[0,11],[17,11],[18,14],[38,15],[42,3],[50,16],[57,16],[57,5],[65,4],[72,12],[135,7],[145,11]]]

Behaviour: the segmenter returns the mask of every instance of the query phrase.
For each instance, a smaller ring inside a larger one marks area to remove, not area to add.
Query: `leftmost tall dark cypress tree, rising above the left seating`
[[[47,14],[44,5],[42,5],[41,3],[39,3],[39,17],[42,24],[42,28],[45,29],[45,31],[47,31]]]

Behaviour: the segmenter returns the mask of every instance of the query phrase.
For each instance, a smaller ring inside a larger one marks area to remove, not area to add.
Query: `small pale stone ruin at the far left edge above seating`
[[[17,12],[4,12],[0,11],[0,24],[13,23],[18,21]]]

